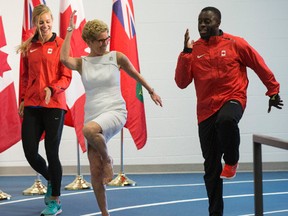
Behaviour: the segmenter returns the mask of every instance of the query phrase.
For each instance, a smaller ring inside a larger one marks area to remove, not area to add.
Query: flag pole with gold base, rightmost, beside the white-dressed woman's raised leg
[[[125,174],[124,174],[124,145],[123,145],[123,140],[124,140],[124,132],[123,129],[121,130],[121,140],[120,140],[120,148],[121,148],[121,154],[120,154],[120,173],[117,175],[115,179],[113,179],[111,182],[108,183],[109,186],[135,186],[136,182],[129,179]]]

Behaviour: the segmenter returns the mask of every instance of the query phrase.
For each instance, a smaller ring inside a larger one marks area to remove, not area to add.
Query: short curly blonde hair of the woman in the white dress
[[[103,32],[109,33],[109,28],[106,23],[101,20],[94,19],[86,22],[83,31],[82,39],[88,43],[97,40],[98,36]]]

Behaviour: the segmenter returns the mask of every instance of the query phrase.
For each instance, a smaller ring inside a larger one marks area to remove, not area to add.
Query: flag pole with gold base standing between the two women
[[[65,190],[83,190],[83,189],[91,189],[91,184],[88,183],[81,175],[81,166],[80,166],[80,150],[78,140],[76,142],[77,145],[77,175],[74,181],[68,184],[65,187]]]

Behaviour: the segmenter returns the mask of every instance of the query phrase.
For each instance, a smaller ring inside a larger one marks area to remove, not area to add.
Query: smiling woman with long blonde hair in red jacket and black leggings
[[[59,196],[62,166],[59,145],[66,113],[65,89],[71,81],[71,70],[60,62],[63,39],[52,32],[53,16],[46,5],[34,8],[34,35],[18,48],[23,60],[20,83],[19,114],[23,117],[22,143],[31,167],[47,181],[46,208],[41,215],[62,212]],[[39,142],[45,134],[45,159],[38,153]]]

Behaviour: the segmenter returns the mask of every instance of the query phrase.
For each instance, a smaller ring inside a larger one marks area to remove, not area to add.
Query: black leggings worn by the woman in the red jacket
[[[22,123],[22,144],[30,166],[47,181],[51,181],[52,196],[60,196],[62,166],[59,145],[64,125],[65,111],[55,108],[25,107]],[[45,132],[45,159],[38,153],[41,136]]]

